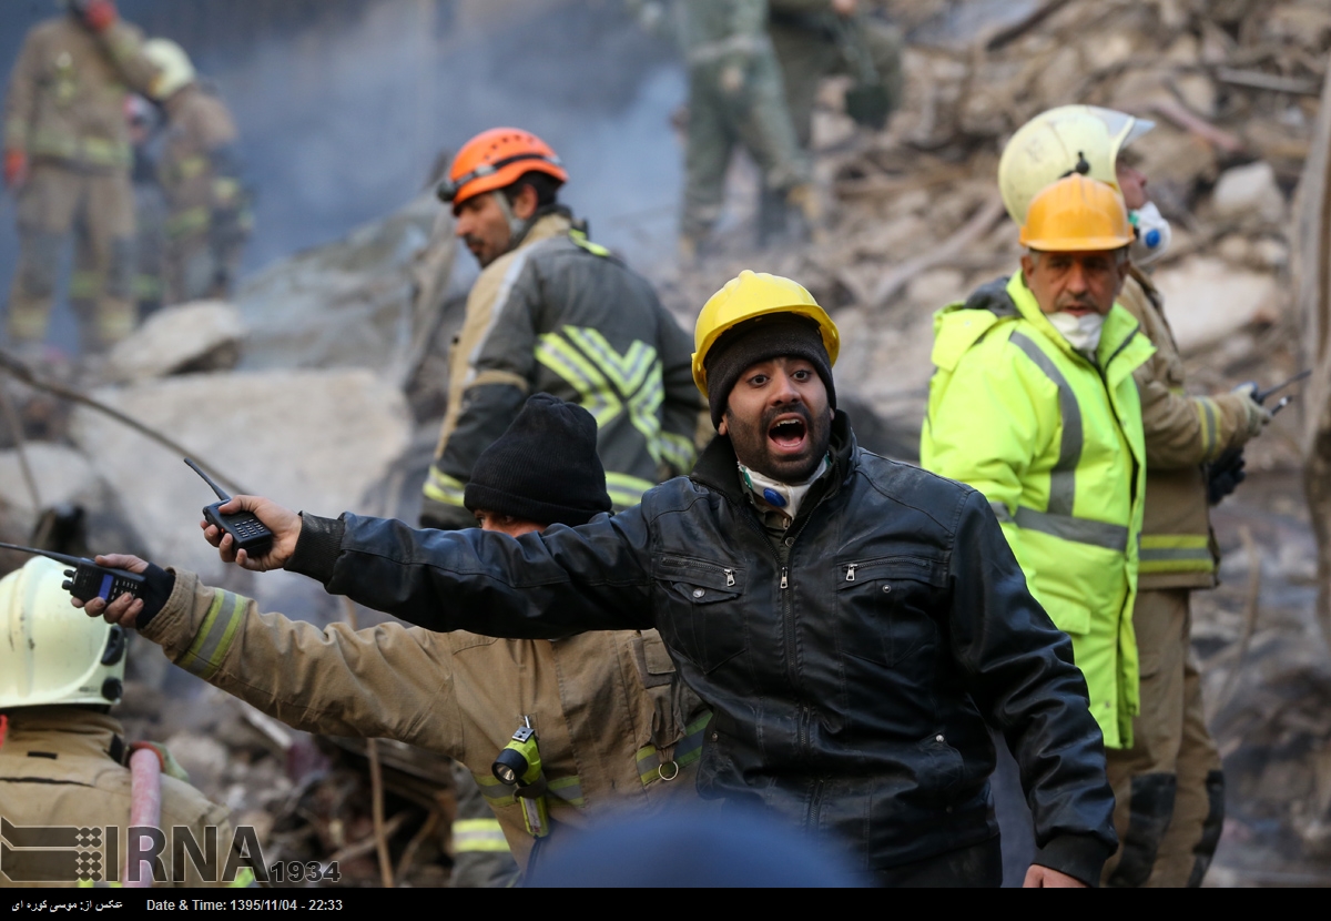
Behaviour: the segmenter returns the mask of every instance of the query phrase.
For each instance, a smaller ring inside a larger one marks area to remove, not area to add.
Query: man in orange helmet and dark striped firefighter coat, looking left
[[[449,406],[421,522],[465,528],[476,458],[535,393],[580,405],[616,510],[688,471],[701,403],[688,335],[651,285],[587,238],[559,204],[568,173],[535,134],[494,128],[467,141],[439,196],[480,264],[449,358]]]

